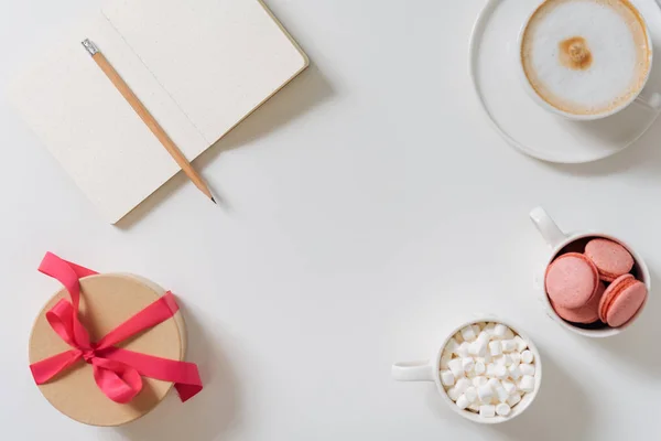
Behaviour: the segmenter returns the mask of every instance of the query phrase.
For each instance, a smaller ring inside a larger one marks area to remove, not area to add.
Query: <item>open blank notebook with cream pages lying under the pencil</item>
[[[80,42],[89,37],[193,160],[307,66],[259,0],[110,0],[11,90],[111,223],[178,166]]]

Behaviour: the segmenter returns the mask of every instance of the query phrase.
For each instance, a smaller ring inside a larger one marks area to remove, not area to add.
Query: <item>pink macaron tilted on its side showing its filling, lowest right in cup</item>
[[[618,277],[604,292],[599,303],[599,319],[611,327],[631,320],[647,299],[647,287],[631,275]]]

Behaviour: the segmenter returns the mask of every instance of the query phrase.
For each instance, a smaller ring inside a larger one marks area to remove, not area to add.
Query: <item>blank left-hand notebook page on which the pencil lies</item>
[[[108,222],[116,223],[177,171],[177,164],[80,42],[88,36],[182,150],[207,142],[108,20],[69,30],[10,92],[19,112]]]

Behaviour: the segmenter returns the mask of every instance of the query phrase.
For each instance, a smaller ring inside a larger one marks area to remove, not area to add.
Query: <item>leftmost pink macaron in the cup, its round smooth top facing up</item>
[[[544,284],[553,304],[577,309],[586,305],[597,293],[599,271],[584,255],[567,252],[549,265]]]

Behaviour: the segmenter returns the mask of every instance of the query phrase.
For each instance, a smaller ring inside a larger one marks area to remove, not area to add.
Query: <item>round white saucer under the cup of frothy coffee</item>
[[[519,75],[517,40],[542,0],[488,0],[470,36],[470,76],[477,97],[496,130],[531,157],[562,163],[596,161],[638,140],[658,111],[633,103],[596,121],[570,121],[538,106]],[[644,17],[654,45],[646,89],[661,93],[661,9],[654,0],[631,0]]]

